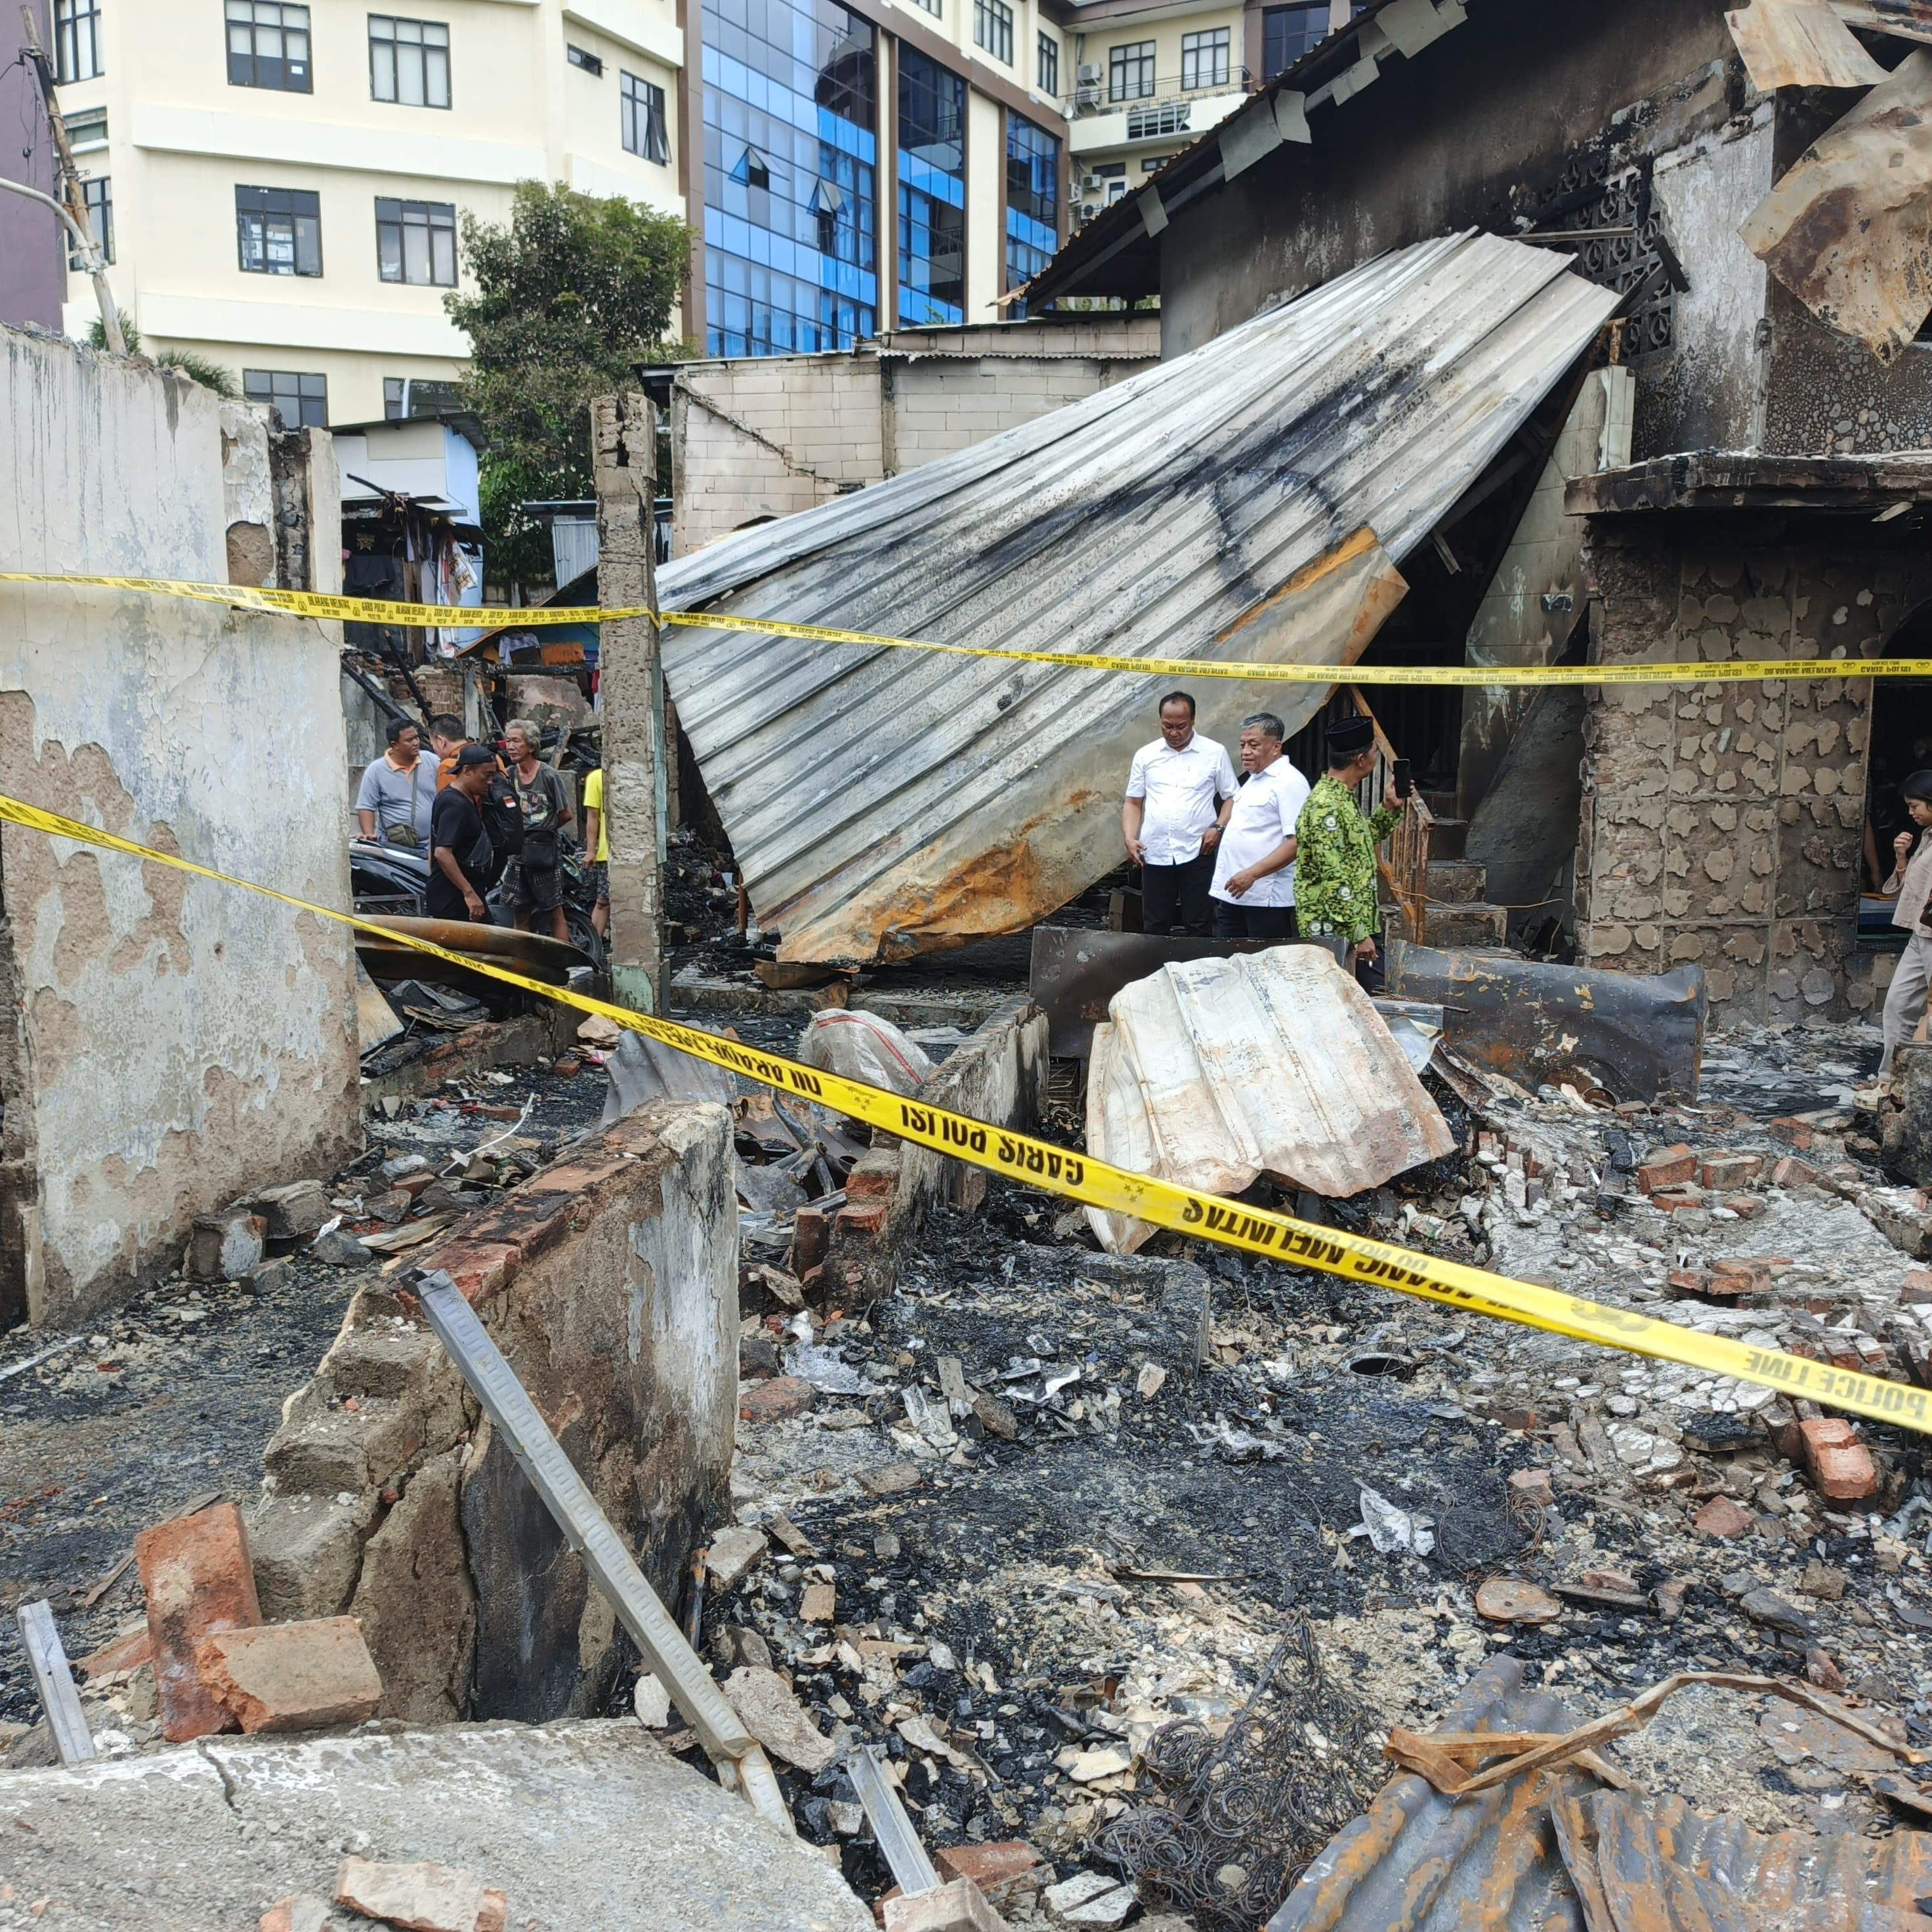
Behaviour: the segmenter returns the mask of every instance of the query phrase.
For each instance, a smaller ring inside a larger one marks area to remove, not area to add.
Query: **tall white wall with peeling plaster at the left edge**
[[[145,363],[0,330],[0,568],[228,580],[274,524],[267,417]],[[226,458],[226,460],[224,460]],[[348,904],[336,645],[218,605],[0,587],[6,788]],[[73,1321],[193,1215],[361,1148],[344,929],[0,831],[0,1325]]]

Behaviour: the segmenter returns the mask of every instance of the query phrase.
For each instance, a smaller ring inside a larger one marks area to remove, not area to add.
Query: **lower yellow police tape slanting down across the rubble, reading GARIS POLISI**
[[[595,1012],[616,1026],[630,1028],[694,1059],[709,1061],[726,1072],[744,1074],[781,1094],[800,1095],[837,1109],[856,1121],[881,1128],[898,1140],[916,1142],[937,1153],[949,1153],[974,1167],[1005,1175],[1026,1186],[1041,1188],[1047,1194],[1061,1194],[1066,1200],[1088,1208],[1103,1208],[1111,1213],[1132,1215],[1151,1221],[1155,1227],[1173,1229],[1179,1235],[1192,1235],[1202,1240],[1219,1242],[1225,1248],[1242,1248],[1250,1254],[1264,1254],[1296,1267],[1314,1267],[1329,1275],[1343,1275],[1350,1281],[1366,1281],[1372,1287],[1399,1289],[1403,1294],[1416,1294],[1432,1302],[1447,1302],[1453,1308],[1466,1308],[1472,1314],[1493,1316],[1499,1321],[1519,1321],[1526,1327],[1548,1329],[1555,1335],[1569,1335],[1575,1341],[1600,1343],[1605,1349],[1623,1349],[1631,1354],[1658,1356],[1665,1362],[1683,1362],[1687,1368],[1702,1370],[1710,1376],[1731,1376],[1739,1381],[1754,1381],[1781,1395],[1808,1397],[1814,1403],[1830,1403],[1853,1414],[1870,1416],[1874,1422],[1897,1422],[1909,1430],[1932,1435],[1932,1391],[1911,1389],[1897,1381],[1884,1381],[1878,1376],[1855,1376],[1847,1370],[1832,1368],[1828,1362],[1812,1362],[1804,1356],[1779,1354],[1774,1349],[1752,1349],[1747,1343],[1719,1335],[1698,1335],[1692,1329],[1658,1321],[1652,1316],[1634,1314],[1625,1308],[1605,1308],[1602,1302],[1588,1302],[1557,1289],[1536,1287],[1526,1281],[1511,1281],[1505,1275],[1492,1275],[1480,1267],[1464,1267],[1459,1262],[1441,1262],[1434,1256],[1412,1254],[1406,1248],[1381,1240],[1368,1240],[1343,1229],[1316,1227],[1296,1221],[1291,1215],[1271,1213],[1265,1208],[1250,1208],[1244,1202],[1231,1202],[1219,1194],[1202,1194],[1194,1188],[1175,1186],[1169,1180],[1155,1180],[1148,1175],[1134,1175],[1122,1167],[1109,1167],[1084,1153],[1055,1148],[1051,1142],[1034,1140],[1030,1134],[1010,1132],[1001,1126],[987,1126],[966,1115],[947,1113],[943,1107],[929,1107],[920,1099],[904,1099],[885,1088],[866,1086],[860,1080],[846,1080],[840,1074],[804,1066],[777,1053],[740,1045],[717,1034],[707,1034],[696,1026],[678,1026],[672,1020],[651,1018],[632,1012],[628,1007],[614,1007],[603,999],[591,999],[570,987],[539,985],[524,974],[506,966],[493,966],[487,960],[452,952],[427,939],[412,939],[394,933],[373,920],[348,912],[334,912],[328,906],[311,904],[274,887],[255,885],[249,879],[236,879],[230,873],[197,866],[172,852],[156,852],[153,846],[135,844],[131,838],[118,838],[114,833],[85,825],[79,819],[44,811],[39,806],[23,804],[17,798],[0,796],[0,819],[23,825],[31,831],[46,833],[54,838],[71,838],[79,844],[100,846],[108,852],[126,852],[129,858],[147,860],[155,866],[170,866],[216,885],[238,887],[245,893],[259,893],[263,898],[280,900],[298,912],[330,920],[338,925],[352,925],[357,931],[373,933],[386,945],[410,947],[431,958],[448,960],[466,972],[483,974],[487,980],[500,980],[504,985],[535,993],[539,999],[553,999],[558,1005],[574,1007],[578,1012]]]

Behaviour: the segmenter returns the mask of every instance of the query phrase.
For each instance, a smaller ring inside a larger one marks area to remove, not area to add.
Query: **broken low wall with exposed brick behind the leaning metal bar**
[[[450,1236],[419,1265],[475,1304],[676,1609],[726,1509],[738,1416],[730,1115],[639,1107]],[[265,1461],[249,1526],[263,1615],[359,1617],[384,1716],[603,1708],[611,1607],[406,1294],[355,1296]]]

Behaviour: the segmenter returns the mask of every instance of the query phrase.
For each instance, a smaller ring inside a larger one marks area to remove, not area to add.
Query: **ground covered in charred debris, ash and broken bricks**
[[[796,1022],[738,1030],[782,1045]],[[1922,1378],[1932,1219],[1886,1184],[1857,1109],[1874,1061],[1868,1028],[1760,1030],[1708,1043],[1694,1107],[1497,1084],[1472,1109],[1435,1086],[1459,1151],[1327,1211]],[[417,1159],[454,1206],[495,1198],[595,1122],[603,1088],[595,1065],[466,1074],[371,1124],[330,1211],[379,1231],[371,1204]],[[1049,1132],[1078,1117],[1055,1109]],[[137,1573],[114,1569],[139,1528],[211,1490],[249,1505],[284,1397],[377,1265],[298,1250],[242,1287],[176,1277],[0,1381],[6,1594],[48,1596],[70,1656],[137,1625]],[[788,1681],[802,1712],[781,1698],[753,1729],[864,1901],[893,1880],[827,1762],[842,1729],[887,1745],[943,1872],[985,1878],[956,1847],[1036,1847],[1041,1866],[989,1882],[1009,1920],[1171,1907],[1200,1932],[1262,1922],[1385,1779],[1389,1727],[1428,1729],[1497,1654],[1586,1716],[1677,1669],[1735,1669],[1932,1745],[1932,1482],[1903,1432],[1833,1447],[1768,1391],[1173,1236],[1105,1256],[1084,1215],[1005,1182],[978,1213],[937,1211],[869,1308],[800,1312],[765,1283],[748,1250],[736,1524],[713,1534],[701,1648],[742,1712],[769,1690],[744,1673]],[[44,1347],[14,1337],[0,1372]],[[1304,1619],[1325,1685],[1283,1692]],[[12,1762],[44,1762],[12,1627],[0,1646]],[[1223,1737],[1271,1667],[1275,1704],[1318,1714],[1296,1731],[1298,1830],[1136,1901],[1121,1880],[1151,1857],[1142,1812],[1184,1768],[1175,1741]],[[158,1748],[139,1671],[83,1694],[104,1750]],[[703,1766],[663,1716],[653,1735]],[[1177,1721],[1194,1729],[1157,1739]],[[1897,1770],[1884,1750],[1729,1690],[1677,1696],[1605,1754],[1764,1832],[1903,1816],[1872,1791]],[[0,1901],[0,1924],[21,1909]]]

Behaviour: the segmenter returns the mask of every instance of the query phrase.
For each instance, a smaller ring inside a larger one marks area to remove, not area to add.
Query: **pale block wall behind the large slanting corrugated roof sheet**
[[[1153,317],[1099,315],[686,363],[670,394],[676,554],[1030,423],[1157,354]]]

